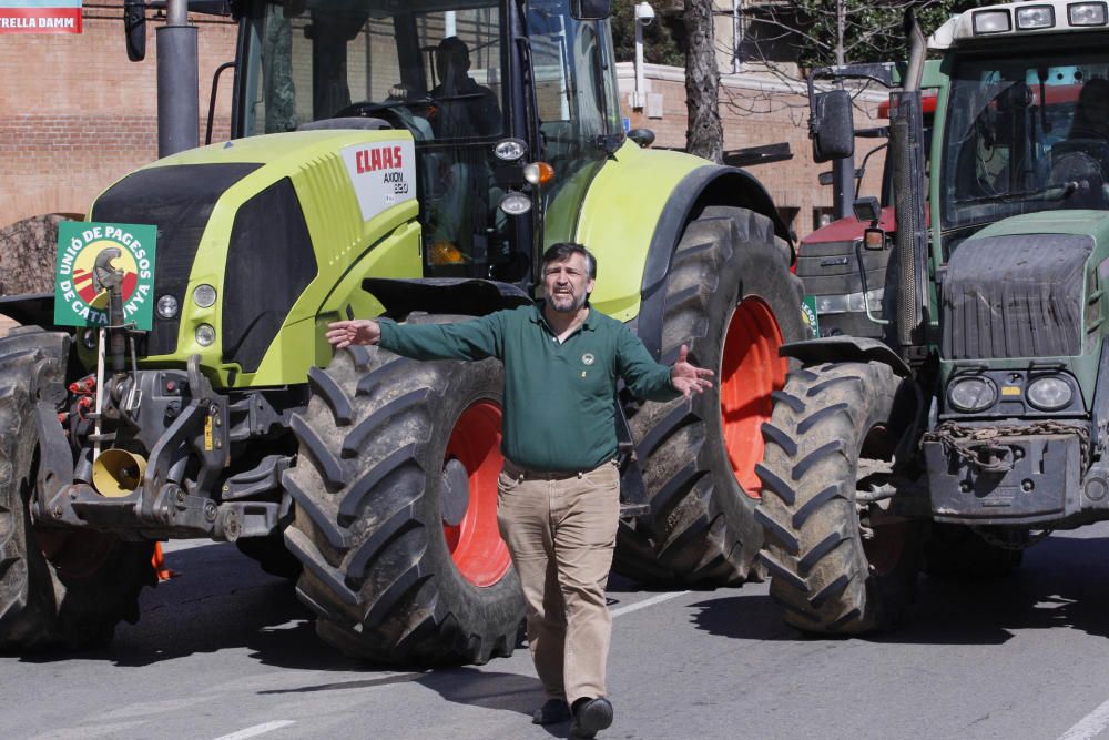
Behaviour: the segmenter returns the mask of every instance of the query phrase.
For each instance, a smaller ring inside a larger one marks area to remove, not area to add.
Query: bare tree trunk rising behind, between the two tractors
[[[685,97],[689,128],[685,149],[691,154],[716,162],[723,160],[724,131],[720,124],[720,72],[712,28],[712,0],[686,0],[682,13],[685,26]]]

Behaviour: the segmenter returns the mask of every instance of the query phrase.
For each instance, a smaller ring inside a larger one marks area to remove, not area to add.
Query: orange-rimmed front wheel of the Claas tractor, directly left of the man
[[[285,540],[316,631],[380,663],[510,656],[525,604],[497,525],[500,363],[352,347],[309,382]]]

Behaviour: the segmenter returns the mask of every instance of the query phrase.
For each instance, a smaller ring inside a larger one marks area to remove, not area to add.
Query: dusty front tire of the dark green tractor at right
[[[909,382],[881,363],[837,363],[790,375],[763,425],[759,466],[766,529],[760,559],[785,621],[805,632],[858,635],[893,628],[916,589],[924,523],[866,509],[864,545],[856,475],[864,458],[888,460]]]

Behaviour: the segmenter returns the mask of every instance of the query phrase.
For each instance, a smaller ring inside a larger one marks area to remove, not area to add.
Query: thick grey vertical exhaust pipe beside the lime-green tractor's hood
[[[189,24],[189,0],[167,0],[157,37],[157,155],[200,145],[200,73],[196,27]]]

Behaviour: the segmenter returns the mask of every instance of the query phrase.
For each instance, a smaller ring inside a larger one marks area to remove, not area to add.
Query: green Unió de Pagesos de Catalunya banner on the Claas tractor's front
[[[54,323],[108,326],[105,285],[114,282],[123,295],[124,325],[149,332],[154,316],[156,239],[157,226],[84,221],[58,224]]]

